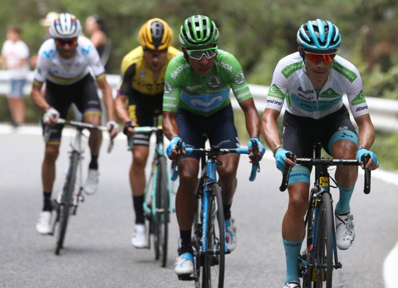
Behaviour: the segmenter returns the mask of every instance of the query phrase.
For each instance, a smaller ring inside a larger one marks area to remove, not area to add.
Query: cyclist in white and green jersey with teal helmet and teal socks
[[[372,159],[366,167],[371,170],[379,167],[377,156],[368,150],[375,140],[375,129],[362,92],[361,76],[352,63],[336,56],[340,41],[338,28],[330,21],[308,21],[297,32],[299,51],[282,58],[275,68],[262,117],[262,132],[281,171],[285,163],[294,165],[286,159],[288,151],[298,157],[312,158],[313,145],[317,142],[338,159],[361,159],[364,153],[369,153]],[[343,105],[344,94],[359,127],[358,134]],[[286,112],[282,145],[276,120],[283,104]],[[297,258],[305,237],[310,169],[295,165],[289,176],[289,204],[282,224],[286,288],[300,287]],[[338,166],[336,169],[340,190],[335,211],[336,244],[343,250],[348,249],[355,239],[350,198],[357,176],[355,166]]]

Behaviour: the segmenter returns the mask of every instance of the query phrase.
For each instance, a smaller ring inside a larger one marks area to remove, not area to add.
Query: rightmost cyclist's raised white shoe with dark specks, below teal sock
[[[354,217],[349,211],[342,214],[336,213],[334,219],[336,224],[336,245],[341,250],[349,249],[355,239]]]

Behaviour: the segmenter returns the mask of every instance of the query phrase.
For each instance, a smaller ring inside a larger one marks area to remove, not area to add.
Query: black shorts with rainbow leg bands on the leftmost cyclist
[[[98,98],[95,82],[90,74],[71,85],[59,85],[47,80],[44,97],[48,104],[60,113],[60,118],[67,117],[71,103],[76,104],[83,116],[89,114],[101,116],[101,102]],[[47,145],[60,144],[63,126],[56,124],[51,127]]]

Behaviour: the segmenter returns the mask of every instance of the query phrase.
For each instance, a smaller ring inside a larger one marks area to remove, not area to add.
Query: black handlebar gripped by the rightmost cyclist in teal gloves
[[[291,152],[286,153],[286,159],[290,159],[291,161],[295,162],[296,164],[304,164],[304,165],[312,165],[312,166],[358,166],[359,161],[357,159],[330,159],[330,158],[296,158],[295,155]],[[295,161],[294,161],[295,159]],[[361,161],[363,162],[364,167],[370,160],[370,155],[368,153],[363,154],[361,157]],[[282,184],[279,187],[280,191],[285,191],[288,184],[289,174],[293,166],[285,164],[282,174]],[[365,176],[364,176],[364,188],[363,192],[365,194],[370,193],[370,170],[364,168]]]

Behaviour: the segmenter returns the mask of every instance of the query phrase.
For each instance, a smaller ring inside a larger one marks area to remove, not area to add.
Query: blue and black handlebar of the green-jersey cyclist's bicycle
[[[181,141],[181,144],[182,144],[182,141]],[[177,145],[179,145],[179,143],[177,143]],[[178,151],[177,145],[176,145],[176,150]],[[181,148],[182,148],[182,146],[181,146]],[[200,153],[203,153],[203,154],[206,154],[206,155],[217,156],[217,155],[223,155],[223,154],[228,154],[228,153],[248,154],[249,150],[248,150],[248,148],[236,148],[236,149],[226,149],[226,148],[216,148],[216,149],[214,149],[214,148],[210,148],[210,149],[208,149],[208,148],[198,148],[198,149],[194,149],[194,148],[191,148],[191,147],[186,147],[185,148],[185,153],[186,154],[192,154],[193,152],[200,152]],[[172,165],[172,170],[173,170],[172,171],[172,175],[171,175],[171,180],[172,181],[176,180],[177,177],[178,177],[178,174],[179,174],[180,155],[181,154],[179,153],[178,158],[177,158],[177,162],[173,162],[173,165]],[[252,171],[251,171],[250,177],[249,177],[250,181],[254,181],[256,179],[257,172],[259,172],[259,164],[258,163],[253,163],[252,164]]]

